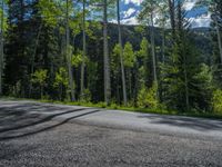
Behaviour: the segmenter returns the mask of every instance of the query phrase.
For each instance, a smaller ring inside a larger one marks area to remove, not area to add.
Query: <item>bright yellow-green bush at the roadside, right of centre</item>
[[[143,86],[138,95],[138,107],[157,109],[159,107],[157,90],[157,84],[153,84],[150,89]]]

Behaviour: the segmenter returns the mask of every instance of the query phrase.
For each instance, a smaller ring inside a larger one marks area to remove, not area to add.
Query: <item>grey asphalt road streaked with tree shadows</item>
[[[222,167],[222,121],[0,100],[4,166]]]

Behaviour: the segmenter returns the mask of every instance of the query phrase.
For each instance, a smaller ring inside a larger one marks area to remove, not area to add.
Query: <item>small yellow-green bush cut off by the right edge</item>
[[[213,106],[214,112],[222,114],[222,90],[221,89],[216,89],[213,92],[212,106]]]

